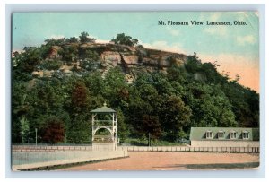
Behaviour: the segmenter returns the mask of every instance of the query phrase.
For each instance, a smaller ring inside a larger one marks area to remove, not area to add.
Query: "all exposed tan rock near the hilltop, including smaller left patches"
[[[66,45],[63,47],[66,47]],[[183,54],[142,47],[128,47],[124,45],[116,45],[113,43],[88,43],[79,45],[79,48],[81,50],[91,50],[98,53],[98,62],[100,63],[100,67],[98,69],[101,73],[105,74],[110,68],[120,66],[125,72],[128,81],[134,79],[137,72],[152,72],[156,70],[166,72],[166,69],[169,66],[184,65],[184,63],[187,61],[187,56]],[[48,58],[59,57],[57,51],[59,49],[61,48],[53,47],[53,51],[51,51],[51,54],[48,56]],[[82,69],[80,64],[83,61],[84,60],[82,59],[74,60],[73,64],[69,66],[63,64],[59,70],[63,74],[68,72],[68,75],[71,75],[74,65],[77,68]],[[57,72],[59,72],[59,70]],[[56,71],[50,71],[49,74],[45,72],[48,71],[39,70],[38,72],[36,71],[32,74],[36,76],[48,75],[48,77],[50,77],[53,72]]]

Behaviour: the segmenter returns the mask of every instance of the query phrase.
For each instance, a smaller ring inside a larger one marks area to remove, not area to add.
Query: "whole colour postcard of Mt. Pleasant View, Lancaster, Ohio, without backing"
[[[258,169],[257,12],[13,13],[12,169]]]

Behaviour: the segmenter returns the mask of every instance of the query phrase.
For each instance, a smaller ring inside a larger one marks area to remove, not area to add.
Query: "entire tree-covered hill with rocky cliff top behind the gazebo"
[[[117,110],[118,135],[177,142],[191,126],[259,126],[259,95],[198,56],[143,48],[118,34],[100,44],[46,39],[13,53],[12,140],[91,143],[91,109]],[[100,131],[100,133],[105,131]]]

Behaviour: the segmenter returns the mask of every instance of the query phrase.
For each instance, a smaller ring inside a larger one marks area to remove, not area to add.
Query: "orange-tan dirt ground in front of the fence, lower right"
[[[213,152],[129,152],[129,158],[57,170],[251,169],[258,154]]]

